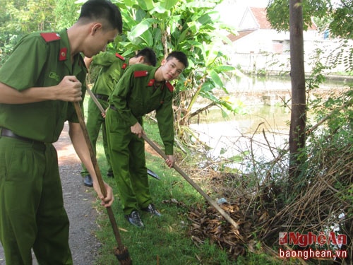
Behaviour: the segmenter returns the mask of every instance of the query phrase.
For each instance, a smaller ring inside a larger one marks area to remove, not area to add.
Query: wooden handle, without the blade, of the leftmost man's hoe
[[[78,121],[80,122],[80,127],[83,131],[83,136],[85,137],[85,142],[88,146],[88,150],[90,151],[90,159],[92,160],[92,164],[95,169],[95,175],[97,176],[98,183],[100,184],[100,191],[102,192],[103,196],[106,197],[107,196],[107,189],[105,189],[102,174],[100,173],[100,167],[98,166],[97,158],[95,156],[95,152],[93,151],[92,143],[90,142],[90,136],[88,135],[87,127],[85,125],[85,118],[83,117],[83,113],[80,108],[80,103],[73,102],[73,106],[75,107]],[[124,247],[123,243],[121,242],[119,229],[118,229],[118,226],[116,225],[116,220],[115,220],[112,208],[107,207],[107,212],[108,212],[110,223],[112,224],[112,228],[114,231],[116,243],[118,244],[118,248],[124,249],[125,247]]]

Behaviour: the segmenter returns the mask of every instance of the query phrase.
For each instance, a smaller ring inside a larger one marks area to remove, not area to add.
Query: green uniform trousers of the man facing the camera
[[[142,125],[142,118],[138,122]],[[145,141],[131,133],[130,126],[119,119],[114,110],[107,111],[106,125],[114,179],[126,215],[152,202],[145,165]]]

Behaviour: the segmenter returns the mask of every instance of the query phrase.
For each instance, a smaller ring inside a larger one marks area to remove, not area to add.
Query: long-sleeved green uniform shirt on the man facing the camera
[[[133,126],[144,114],[156,110],[165,153],[172,155],[174,144],[173,86],[166,82],[156,87],[154,79],[156,70],[157,67],[145,64],[129,66],[110,95],[109,104],[114,105],[119,119],[124,120],[128,126]]]

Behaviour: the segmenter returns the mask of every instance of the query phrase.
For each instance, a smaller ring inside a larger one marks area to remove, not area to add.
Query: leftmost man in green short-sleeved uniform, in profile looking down
[[[73,102],[82,103],[92,57],[121,33],[119,8],[107,0],[88,0],[75,24],[59,33],[31,33],[0,68],[0,241],[6,264],[73,264],[68,217],[52,143],[64,122],[80,160],[104,198]],[[73,200],[73,203],[75,200]]]

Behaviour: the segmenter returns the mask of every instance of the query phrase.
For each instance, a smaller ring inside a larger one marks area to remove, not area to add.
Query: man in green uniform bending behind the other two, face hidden
[[[92,88],[92,93],[95,98],[100,102],[100,105],[107,110],[108,108],[108,97],[116,83],[118,83],[120,76],[124,73],[124,70],[128,65],[133,64],[147,64],[155,66],[157,59],[155,57],[155,52],[150,48],[141,49],[135,57],[125,59],[120,54],[113,54],[111,52],[100,52],[100,54],[88,59],[85,58],[85,64],[89,68],[90,64],[102,66],[100,73],[95,81],[95,85]],[[90,136],[90,141],[96,151],[96,143],[98,135],[100,134],[100,128],[102,127],[102,138],[105,157],[108,163],[108,177],[114,177],[112,166],[109,161],[107,134],[105,131],[105,119],[102,116],[100,109],[97,107],[95,102],[90,98],[88,100],[88,115],[86,122],[88,136]],[[90,176],[85,165],[82,165],[81,175],[83,176],[83,184],[87,187],[92,187],[92,177]]]

